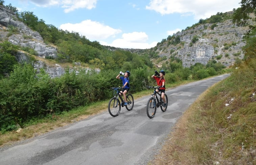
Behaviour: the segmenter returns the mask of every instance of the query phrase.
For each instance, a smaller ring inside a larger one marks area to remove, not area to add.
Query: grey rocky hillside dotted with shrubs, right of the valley
[[[214,28],[212,25],[201,24],[177,32],[174,36],[180,37],[180,44],[168,44],[167,38],[158,45],[156,52],[160,57],[166,56],[167,60],[170,56],[181,59],[184,67],[194,65],[196,62],[205,65],[210,59],[230,66],[235,58],[242,59],[242,47],[246,44],[243,36],[248,28],[235,26],[232,20],[217,23]],[[195,43],[192,42],[194,37],[198,38]]]

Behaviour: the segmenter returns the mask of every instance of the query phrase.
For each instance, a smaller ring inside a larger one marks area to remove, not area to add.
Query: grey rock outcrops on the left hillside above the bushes
[[[9,36],[10,27],[17,28],[17,32]],[[1,40],[7,39],[13,45],[31,48],[41,58],[56,58],[57,55],[55,47],[46,45],[38,32],[31,30],[23,22],[18,21],[16,14],[3,6],[0,6],[0,38]],[[17,52],[16,59],[18,62],[31,62],[30,57],[23,51]],[[64,67],[59,64],[50,66],[41,60],[33,61],[32,64],[38,72],[40,72],[41,68],[44,68],[52,78],[60,77],[65,73]]]

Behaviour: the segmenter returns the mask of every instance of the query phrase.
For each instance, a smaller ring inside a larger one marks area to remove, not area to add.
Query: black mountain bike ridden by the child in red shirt
[[[149,118],[153,118],[155,116],[156,110],[159,106],[160,106],[160,108],[163,112],[166,111],[167,106],[168,106],[168,98],[167,98],[167,95],[164,93],[164,97],[165,97],[165,100],[166,100],[166,104],[164,104],[164,102],[162,101],[162,98],[161,98],[161,93],[156,91],[156,89],[159,89],[160,86],[146,86],[146,88],[154,89],[154,92],[151,95],[151,98],[149,98],[148,101],[147,101],[147,116]],[[158,99],[157,95],[159,95],[160,100]]]

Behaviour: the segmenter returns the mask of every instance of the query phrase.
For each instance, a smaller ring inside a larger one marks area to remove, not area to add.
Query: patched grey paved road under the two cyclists
[[[166,90],[168,107],[146,115],[150,93],[135,100],[132,111],[119,116],[108,111],[54,130],[16,146],[0,148],[1,165],[146,165],[182,113],[209,86],[228,77],[217,76]]]

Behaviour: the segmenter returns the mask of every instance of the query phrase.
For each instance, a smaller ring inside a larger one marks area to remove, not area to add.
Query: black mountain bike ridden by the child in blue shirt
[[[109,101],[109,113],[111,116],[116,117],[119,115],[121,106],[124,107],[128,110],[131,111],[133,109],[134,105],[134,99],[132,94],[126,94],[126,100],[127,100],[127,105],[124,105],[124,100],[122,99],[120,95],[120,90],[122,87],[112,87],[114,92],[114,97],[110,99]],[[120,104],[120,100],[121,104]]]

